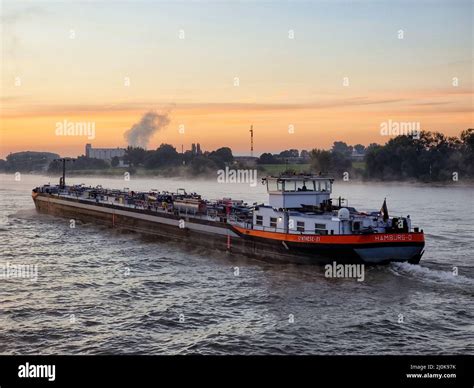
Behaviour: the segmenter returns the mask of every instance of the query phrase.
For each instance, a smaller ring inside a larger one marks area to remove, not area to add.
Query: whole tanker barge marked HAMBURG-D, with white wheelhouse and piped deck
[[[33,189],[40,212],[132,230],[282,262],[326,264],[418,263],[424,234],[407,217],[360,212],[330,198],[333,179],[282,175],[262,180],[269,204],[208,201],[183,189],[135,192],[101,186],[44,185]]]

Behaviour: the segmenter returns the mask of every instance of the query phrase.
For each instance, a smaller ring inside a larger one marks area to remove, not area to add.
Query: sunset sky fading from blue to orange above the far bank
[[[234,154],[383,144],[473,124],[471,1],[1,1],[0,157],[148,146]],[[93,123],[61,136],[58,123]]]

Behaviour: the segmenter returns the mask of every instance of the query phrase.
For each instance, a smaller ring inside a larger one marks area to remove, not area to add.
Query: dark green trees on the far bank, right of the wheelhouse
[[[447,181],[474,178],[474,129],[459,137],[422,131],[418,136],[400,135],[386,144],[364,149],[363,166],[353,163],[354,147],[335,142],[331,150],[313,149],[311,169],[341,176],[376,180]]]

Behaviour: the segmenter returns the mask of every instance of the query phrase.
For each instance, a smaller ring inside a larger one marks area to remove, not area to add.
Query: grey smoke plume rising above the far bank
[[[128,145],[146,149],[153,134],[170,123],[168,115],[169,112],[157,113],[150,111],[145,113],[138,123],[124,133]]]

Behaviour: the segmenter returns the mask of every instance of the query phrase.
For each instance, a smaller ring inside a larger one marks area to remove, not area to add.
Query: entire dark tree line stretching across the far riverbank
[[[58,173],[61,162],[59,155],[49,152],[17,152],[0,159],[2,172],[45,172]],[[236,165],[232,150],[221,147],[214,151],[179,153],[170,144],[161,144],[156,150],[128,147],[123,161],[127,169],[175,171],[184,166],[192,174],[215,172],[225,166]],[[315,148],[311,151],[289,149],[278,154],[263,153],[257,164],[309,163],[308,172],[325,173],[341,177],[375,180],[419,180],[446,181],[474,178],[474,129],[466,129],[459,137],[448,137],[440,132],[420,132],[419,136],[400,135],[386,144],[370,144],[367,147],[334,142],[329,150]],[[105,170],[119,164],[79,156],[68,170]],[[239,168],[246,167],[238,165]],[[250,167],[250,166],[247,166]],[[264,168],[264,166],[262,166]]]

